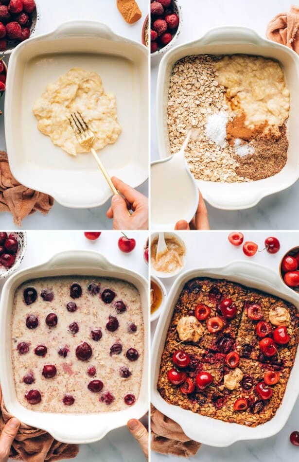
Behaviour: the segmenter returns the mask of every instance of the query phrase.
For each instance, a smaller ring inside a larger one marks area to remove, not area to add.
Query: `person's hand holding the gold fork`
[[[124,196],[114,195],[108,218],[113,218],[114,230],[147,230],[148,229],[148,199],[134,188],[116,177],[111,178],[116,189]],[[128,205],[133,210],[128,215]]]

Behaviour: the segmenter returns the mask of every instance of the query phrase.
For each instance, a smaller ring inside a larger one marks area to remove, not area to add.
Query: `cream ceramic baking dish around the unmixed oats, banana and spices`
[[[157,132],[158,150],[162,159],[170,154],[167,131],[168,89],[174,64],[191,54],[244,53],[276,59],[281,63],[286,84],[290,90],[288,120],[289,150],[286,165],[277,175],[250,183],[218,183],[196,180],[204,199],[213,207],[225,210],[247,209],[263,197],[282,191],[299,178],[299,57],[284,45],[265,40],[253,30],[243,27],[219,27],[212,29],[198,40],[189,42],[165,54],[158,71]]]

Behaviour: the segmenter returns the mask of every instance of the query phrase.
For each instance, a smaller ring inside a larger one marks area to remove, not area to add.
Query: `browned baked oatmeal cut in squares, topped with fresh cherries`
[[[291,303],[225,279],[195,278],[176,302],[158,391],[201,415],[263,424],[281,405],[298,326]]]

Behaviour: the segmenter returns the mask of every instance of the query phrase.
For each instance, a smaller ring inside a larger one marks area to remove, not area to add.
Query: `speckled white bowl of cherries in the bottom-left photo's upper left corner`
[[[24,258],[26,232],[0,231],[0,279],[12,274]]]

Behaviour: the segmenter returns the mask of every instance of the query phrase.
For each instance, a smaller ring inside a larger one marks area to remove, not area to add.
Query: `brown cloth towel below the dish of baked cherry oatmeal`
[[[192,457],[201,444],[190,440],[182,427],[151,406],[152,451],[179,457]]]

